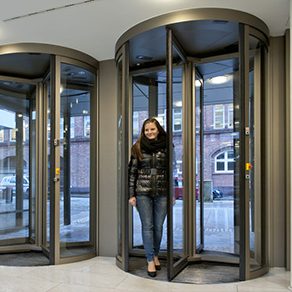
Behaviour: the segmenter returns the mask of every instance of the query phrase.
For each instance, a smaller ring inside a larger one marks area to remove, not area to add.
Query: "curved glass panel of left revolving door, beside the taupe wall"
[[[93,243],[90,243],[90,98],[94,85],[93,73],[73,65],[61,64],[61,257],[94,250]],[[80,245],[85,242],[87,249]]]

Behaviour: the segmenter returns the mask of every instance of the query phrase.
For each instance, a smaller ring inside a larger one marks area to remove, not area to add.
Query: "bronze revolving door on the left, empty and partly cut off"
[[[50,45],[2,48],[0,251],[44,264],[94,257],[97,61]]]

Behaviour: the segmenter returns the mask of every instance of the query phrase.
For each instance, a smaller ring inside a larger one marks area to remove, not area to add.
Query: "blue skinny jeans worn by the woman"
[[[167,212],[167,197],[138,195],[137,208],[142,223],[142,240],[148,262],[158,256]]]

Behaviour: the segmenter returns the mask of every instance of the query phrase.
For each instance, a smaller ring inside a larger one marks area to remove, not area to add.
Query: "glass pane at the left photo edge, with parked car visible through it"
[[[25,243],[30,235],[30,147],[35,140],[30,145],[29,108],[34,91],[35,85],[0,80],[0,245]]]

